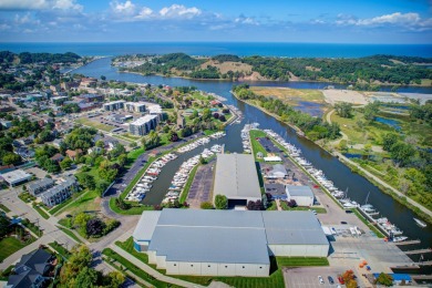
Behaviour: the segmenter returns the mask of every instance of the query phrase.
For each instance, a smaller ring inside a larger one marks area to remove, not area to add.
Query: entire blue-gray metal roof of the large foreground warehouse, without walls
[[[328,245],[311,212],[144,212],[133,234],[169,261],[269,264],[268,245]]]

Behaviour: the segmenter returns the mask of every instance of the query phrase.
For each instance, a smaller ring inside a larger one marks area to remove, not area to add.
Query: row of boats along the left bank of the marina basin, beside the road
[[[126,195],[125,199],[133,202],[142,200],[145,197],[146,193],[150,192],[150,189],[152,188],[152,183],[157,179],[157,175],[161,173],[161,168],[176,157],[176,154],[169,153],[153,162],[152,165],[150,165],[148,168],[145,171],[138,183]]]

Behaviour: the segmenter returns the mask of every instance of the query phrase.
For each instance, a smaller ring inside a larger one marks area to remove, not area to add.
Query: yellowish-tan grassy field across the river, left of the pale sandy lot
[[[250,90],[257,95],[277,97],[291,105],[297,105],[298,101],[326,103],[325,96],[319,90],[265,86],[251,86]]]

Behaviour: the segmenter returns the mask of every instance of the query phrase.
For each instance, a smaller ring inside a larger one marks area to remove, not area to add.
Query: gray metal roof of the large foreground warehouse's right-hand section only
[[[263,212],[269,245],[328,245],[312,212]]]

